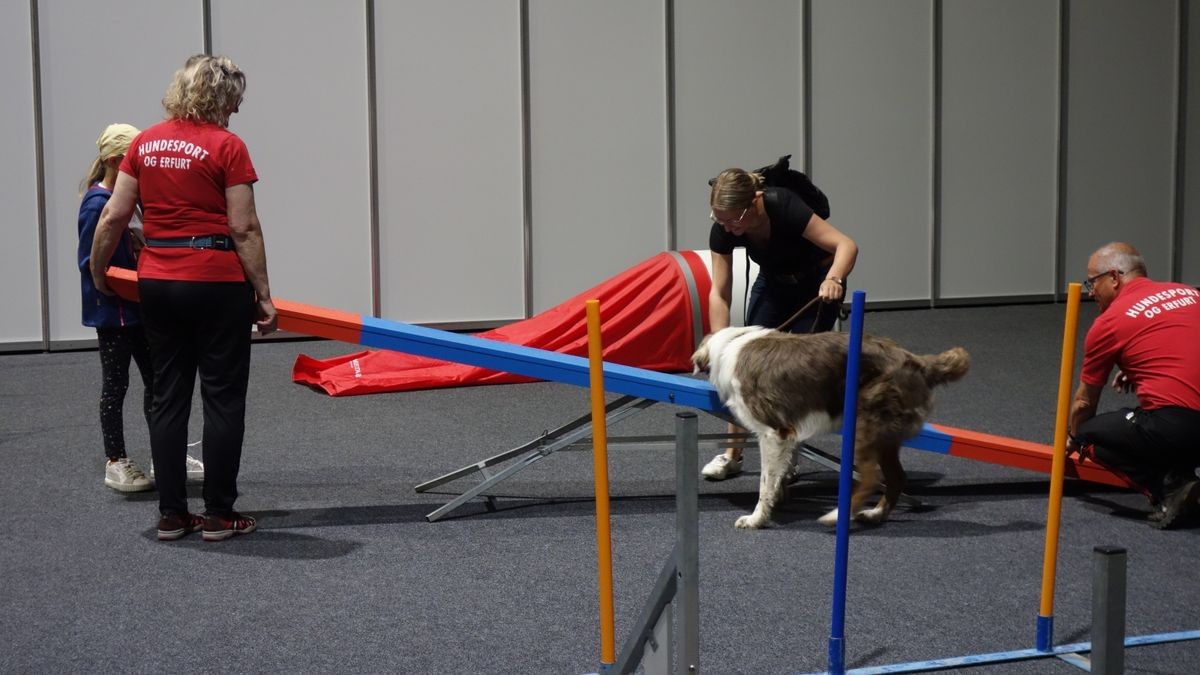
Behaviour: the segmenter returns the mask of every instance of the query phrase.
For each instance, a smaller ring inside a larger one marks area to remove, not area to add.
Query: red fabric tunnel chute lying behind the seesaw
[[[712,282],[697,253],[684,251],[682,255],[696,280],[703,331],[707,333]],[[659,253],[535,317],[478,336],[587,357],[584,303],[590,299],[600,300],[606,362],[668,372],[691,370],[691,353],[700,336],[692,330],[692,303],[686,281],[670,253]],[[292,369],[292,380],[332,396],[534,381],[388,350],[329,359],[300,354]]]

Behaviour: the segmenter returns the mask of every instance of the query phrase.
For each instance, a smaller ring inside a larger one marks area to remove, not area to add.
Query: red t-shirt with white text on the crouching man
[[[1142,408],[1200,411],[1200,291],[1132,279],[1096,318],[1084,345],[1085,383],[1104,387],[1117,365]]]

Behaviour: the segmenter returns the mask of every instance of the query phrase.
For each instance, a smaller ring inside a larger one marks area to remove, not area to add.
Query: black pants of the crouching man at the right
[[[1164,479],[1194,476],[1200,465],[1200,411],[1122,408],[1080,424],[1076,436],[1096,446],[1097,461],[1126,474],[1156,503]]]

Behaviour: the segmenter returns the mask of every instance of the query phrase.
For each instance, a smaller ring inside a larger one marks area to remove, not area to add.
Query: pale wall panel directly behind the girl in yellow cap
[[[96,336],[80,325],[76,267],[79,180],[96,138],[112,123],[144,129],[162,119],[172,73],[203,50],[200,10],[198,1],[38,5],[52,340]]]

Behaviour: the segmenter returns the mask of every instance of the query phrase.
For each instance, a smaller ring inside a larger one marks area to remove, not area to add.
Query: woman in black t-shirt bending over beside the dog
[[[713,181],[709,205],[713,289],[708,316],[713,331],[730,325],[733,249],[738,246],[744,246],[750,259],[758,263],[746,325],[778,328],[815,297],[822,303],[835,303],[846,295],[846,276],[854,269],[858,245],[814,214],[792,191],[764,187],[762,175],[731,168]],[[822,303],[785,330],[811,333],[833,328],[838,311],[822,307]],[[728,448],[702,470],[713,480],[740,472],[740,448]]]

